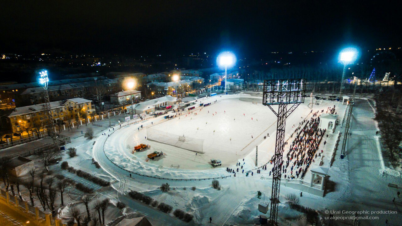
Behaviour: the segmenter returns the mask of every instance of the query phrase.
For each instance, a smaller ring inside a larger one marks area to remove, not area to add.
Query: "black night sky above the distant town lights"
[[[231,49],[255,57],[402,44],[401,7],[384,0],[122,2],[2,2],[0,52],[137,56]]]

